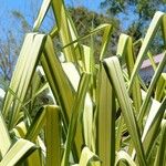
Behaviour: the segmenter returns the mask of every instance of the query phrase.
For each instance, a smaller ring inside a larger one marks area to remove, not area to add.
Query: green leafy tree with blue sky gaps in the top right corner
[[[166,0],[104,0],[101,7],[106,9],[108,17],[115,17],[121,22],[125,33],[134,40],[144,38],[149,21],[156,11],[166,11]],[[157,48],[155,46],[157,43]],[[153,43],[153,53],[156,54],[163,49],[160,33],[158,32]]]

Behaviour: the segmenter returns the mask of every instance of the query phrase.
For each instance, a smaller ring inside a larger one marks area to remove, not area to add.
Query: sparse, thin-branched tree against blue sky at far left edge
[[[37,11],[38,8],[40,8],[41,2],[41,0],[23,1],[21,3],[22,9],[19,7],[9,9],[6,2],[1,2],[0,87],[3,90],[8,87],[24,34],[32,30],[32,22],[34,22],[37,18]],[[29,6],[25,6],[27,3],[29,3]]]

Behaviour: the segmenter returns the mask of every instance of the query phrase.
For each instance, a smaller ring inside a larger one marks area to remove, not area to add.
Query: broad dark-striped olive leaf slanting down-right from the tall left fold
[[[62,69],[58,55],[54,52],[52,40],[49,35],[46,38],[44,50],[44,54],[41,56],[41,64],[52,93],[62,107],[62,118],[66,129],[72,115],[71,107],[74,103],[75,92]]]

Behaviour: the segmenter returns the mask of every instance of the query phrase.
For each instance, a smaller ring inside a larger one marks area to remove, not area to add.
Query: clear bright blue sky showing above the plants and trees
[[[102,13],[104,12],[104,10],[100,8],[100,3],[103,1],[104,0],[64,0],[66,6],[83,6],[89,10]],[[33,6],[31,3],[33,3]],[[12,18],[12,10],[20,11],[25,17],[25,19],[28,19],[28,21],[33,24],[35,19],[34,15],[37,15],[37,11],[41,7],[41,3],[42,0],[0,0],[0,25],[7,24],[8,27],[8,23],[10,22],[8,20]],[[129,8],[126,13],[121,13],[118,18],[122,22],[123,29],[126,29],[131,22],[137,20],[137,15],[134,13],[134,10],[132,8]]]

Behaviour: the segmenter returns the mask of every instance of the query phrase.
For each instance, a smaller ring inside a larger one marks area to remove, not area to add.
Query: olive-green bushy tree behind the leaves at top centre
[[[108,50],[106,55],[111,56],[115,54],[116,51],[116,44],[120,35],[120,21],[116,18],[108,18],[105,14],[97,13],[94,11],[90,11],[86,8],[77,7],[77,8],[69,8],[69,12],[72,17],[72,20],[74,24],[76,25],[76,30],[80,35],[87,34],[92,29],[98,27],[102,23],[111,23],[114,25],[112,37],[110,39],[108,43]],[[95,49],[95,55],[96,60],[98,59],[100,54],[100,46],[102,41],[102,35],[98,34],[94,38],[94,49]],[[87,40],[84,40],[84,44],[90,45],[91,40],[90,38]]]

